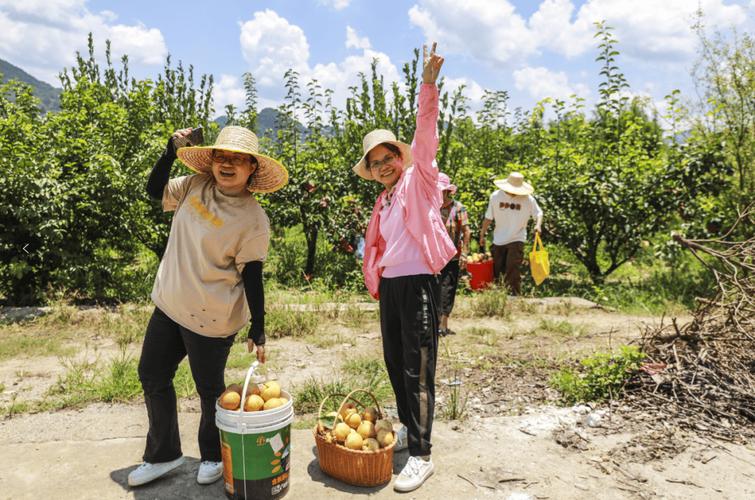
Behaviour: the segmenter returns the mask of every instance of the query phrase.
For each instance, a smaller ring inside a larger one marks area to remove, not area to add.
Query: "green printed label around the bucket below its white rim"
[[[288,490],[291,426],[257,434],[220,430],[226,491],[232,498],[275,498]]]

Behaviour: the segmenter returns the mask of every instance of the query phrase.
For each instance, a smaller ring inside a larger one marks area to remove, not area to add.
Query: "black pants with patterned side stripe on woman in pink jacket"
[[[380,280],[383,358],[409,437],[409,454],[430,454],[438,354],[438,279],[429,274]]]

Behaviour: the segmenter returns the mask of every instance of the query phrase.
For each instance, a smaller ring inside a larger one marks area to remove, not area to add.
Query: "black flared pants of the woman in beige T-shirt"
[[[149,418],[145,462],[169,462],[181,456],[173,377],[187,354],[202,405],[199,452],[202,460],[220,462],[215,401],[225,390],[223,372],[234,337],[235,334],[226,338],[204,337],[187,330],[155,308],[139,359],[139,380]]]

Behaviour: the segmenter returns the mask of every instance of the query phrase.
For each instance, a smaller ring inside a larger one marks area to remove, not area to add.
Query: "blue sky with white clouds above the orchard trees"
[[[57,85],[92,31],[100,48],[109,38],[128,53],[137,76],[157,74],[168,53],[213,74],[220,112],[243,101],[245,71],[263,106],[279,102],[288,67],[333,88],[339,104],[374,57],[400,80],[412,49],[437,40],[443,74],[466,85],[473,109],[483,89],[529,109],[548,96],[597,97],[592,22],[606,19],[631,91],[662,106],[672,89],[693,91],[698,6],[711,31],[755,27],[755,0],[0,0],[0,58]]]

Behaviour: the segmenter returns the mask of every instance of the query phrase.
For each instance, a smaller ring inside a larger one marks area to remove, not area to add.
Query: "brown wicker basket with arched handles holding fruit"
[[[351,391],[347,396],[343,396],[342,394],[331,394],[327,396],[322,400],[322,403],[320,403],[320,411],[317,415],[318,423],[314,429],[318,461],[320,463],[320,468],[325,474],[343,481],[344,483],[354,486],[379,486],[391,480],[393,474],[393,446],[395,443],[391,443],[387,447],[381,448],[377,451],[350,450],[343,446],[339,446],[335,442],[329,443],[325,440],[325,437],[318,432],[318,428],[321,427],[320,419],[322,418],[323,406],[325,401],[331,397],[343,397],[343,401],[338,407],[336,416],[333,417],[333,425],[330,427],[331,429],[335,427],[338,413],[340,413],[343,406],[349,400],[364,409],[364,403],[354,398],[354,393],[357,392],[363,392],[369,395],[375,402],[378,417],[383,418],[383,412],[380,409],[380,404],[377,402],[377,398],[375,398],[375,395],[369,391],[357,389]]]

